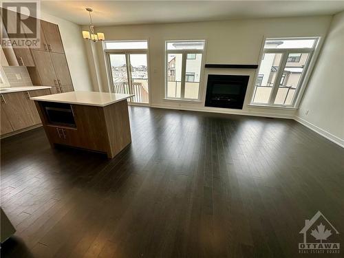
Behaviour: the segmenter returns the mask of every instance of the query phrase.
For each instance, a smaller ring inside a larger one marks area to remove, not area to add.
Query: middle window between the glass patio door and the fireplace
[[[166,41],[165,97],[200,99],[205,41]]]

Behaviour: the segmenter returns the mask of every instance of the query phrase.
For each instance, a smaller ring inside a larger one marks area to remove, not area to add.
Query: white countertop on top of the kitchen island
[[[46,96],[33,97],[32,100],[105,107],[121,100],[131,98],[133,94],[116,94],[105,92],[65,92]]]

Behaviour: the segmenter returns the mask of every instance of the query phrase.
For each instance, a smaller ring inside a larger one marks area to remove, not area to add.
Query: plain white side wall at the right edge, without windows
[[[296,115],[296,120],[344,147],[344,12],[332,20]]]

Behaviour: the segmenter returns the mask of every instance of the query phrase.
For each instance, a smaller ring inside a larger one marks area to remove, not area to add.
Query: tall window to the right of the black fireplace
[[[318,41],[266,39],[252,104],[294,106]]]

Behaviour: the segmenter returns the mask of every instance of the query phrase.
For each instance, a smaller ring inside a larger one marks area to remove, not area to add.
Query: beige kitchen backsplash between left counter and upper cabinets
[[[32,81],[25,66],[3,66],[3,71],[11,87],[32,86]]]

